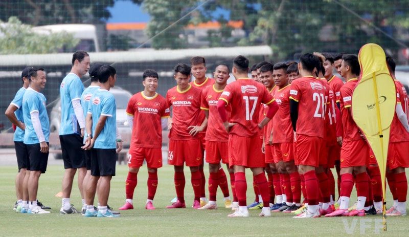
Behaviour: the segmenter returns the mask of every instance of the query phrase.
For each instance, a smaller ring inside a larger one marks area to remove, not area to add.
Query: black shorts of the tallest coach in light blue
[[[77,169],[85,167],[83,139],[78,134],[60,135],[62,160],[64,169]]]

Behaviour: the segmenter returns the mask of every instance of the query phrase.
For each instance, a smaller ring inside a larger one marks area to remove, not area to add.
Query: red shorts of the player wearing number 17
[[[249,168],[264,167],[264,156],[261,152],[262,140],[229,135],[229,165],[240,165]]]

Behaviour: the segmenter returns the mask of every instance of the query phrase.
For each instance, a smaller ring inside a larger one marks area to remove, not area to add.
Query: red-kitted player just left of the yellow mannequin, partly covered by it
[[[365,216],[363,207],[369,191],[368,174],[366,170],[369,164],[369,146],[351,115],[352,91],[358,82],[357,77],[359,77],[360,73],[358,57],[353,54],[344,55],[340,70],[341,75],[347,80],[340,90],[341,97],[339,100],[344,128],[340,158],[340,205],[337,210],[325,216]],[[354,176],[356,179],[358,201],[356,202],[356,208],[348,213],[348,204],[354,185]]]

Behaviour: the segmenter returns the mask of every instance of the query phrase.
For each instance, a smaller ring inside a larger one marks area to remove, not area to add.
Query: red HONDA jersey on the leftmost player
[[[169,118],[165,98],[157,93],[153,98],[147,98],[142,92],[134,94],[129,99],[126,113],[133,116],[131,145],[162,147],[161,118]]]

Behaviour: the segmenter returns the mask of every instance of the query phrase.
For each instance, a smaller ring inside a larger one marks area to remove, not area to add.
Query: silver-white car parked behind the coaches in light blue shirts
[[[123,141],[123,149],[129,148],[132,130],[128,126],[128,120],[126,116],[126,106],[131,98],[132,94],[122,88],[116,87],[109,90],[115,97],[115,102],[117,105],[117,126],[118,131],[121,134]],[[52,133],[59,133],[60,123],[61,123],[61,101],[56,100],[53,109],[50,112],[50,131]],[[61,147],[51,147],[52,149],[61,149]],[[121,156],[126,156],[122,153]],[[61,159],[61,154],[55,154],[56,159]],[[126,158],[126,157],[121,157]]]

